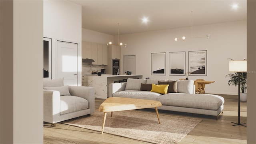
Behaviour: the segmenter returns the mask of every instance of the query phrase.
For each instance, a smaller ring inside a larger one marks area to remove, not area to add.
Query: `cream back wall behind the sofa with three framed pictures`
[[[136,54],[137,74],[155,79],[179,79],[185,76],[169,76],[169,52],[186,52],[186,70],[188,70],[188,51],[207,50],[207,76],[189,76],[189,79],[214,80],[206,85],[206,92],[212,94],[234,94],[238,88],[228,87],[228,58],[243,60],[246,58],[246,20],[203,26],[193,26],[193,36],[211,34],[210,39],[195,38],[174,41],[174,38],[191,36],[191,27],[120,35],[127,48],[121,49],[121,55]],[[151,53],[166,52],[166,76],[152,76]],[[121,72],[123,71],[121,58]]]

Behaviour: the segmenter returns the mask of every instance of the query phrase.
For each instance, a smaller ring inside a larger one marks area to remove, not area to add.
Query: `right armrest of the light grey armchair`
[[[95,88],[90,86],[68,86],[69,93],[72,96],[78,96],[89,101],[91,113],[95,110]]]

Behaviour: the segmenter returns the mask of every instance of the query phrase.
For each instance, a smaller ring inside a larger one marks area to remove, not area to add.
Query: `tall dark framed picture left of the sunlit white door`
[[[44,79],[52,79],[52,39],[44,38]]]

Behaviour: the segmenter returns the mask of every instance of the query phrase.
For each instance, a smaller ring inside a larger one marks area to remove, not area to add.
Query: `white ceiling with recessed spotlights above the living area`
[[[246,20],[246,0],[72,0],[82,28],[110,35]],[[237,9],[232,5],[238,4]],[[147,24],[142,18],[148,17]]]

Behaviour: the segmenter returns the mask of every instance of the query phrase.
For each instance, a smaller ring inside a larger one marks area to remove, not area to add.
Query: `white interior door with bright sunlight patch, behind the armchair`
[[[64,77],[64,85],[77,86],[77,48],[78,44],[57,42],[57,76]]]

